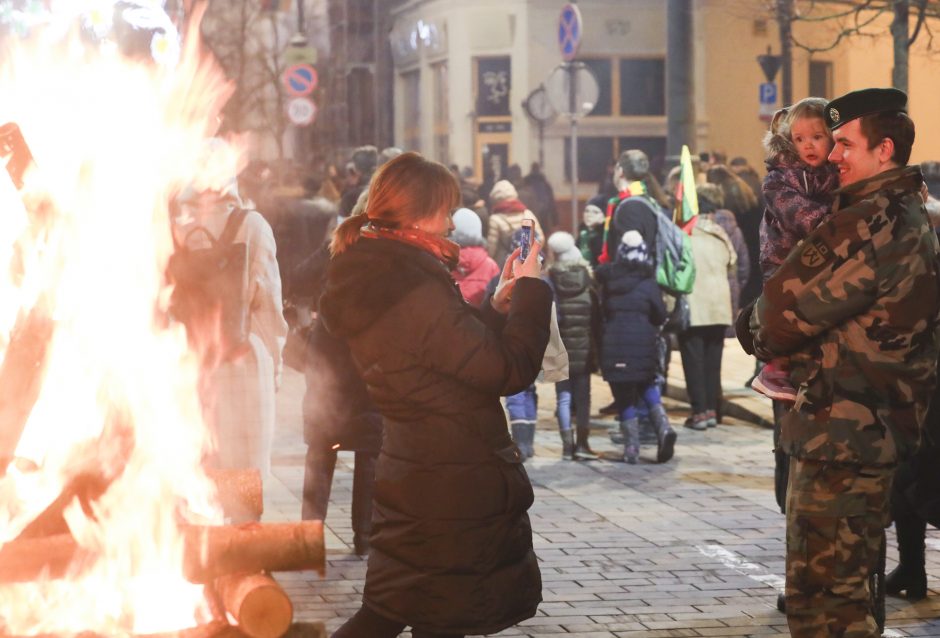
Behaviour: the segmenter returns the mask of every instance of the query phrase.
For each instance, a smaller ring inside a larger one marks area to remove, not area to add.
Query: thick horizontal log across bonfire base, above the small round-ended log
[[[323,574],[321,521],[186,525],[182,533],[183,574],[193,583],[237,572],[312,569]],[[11,541],[0,546],[0,583],[61,578],[78,554],[69,534]]]

